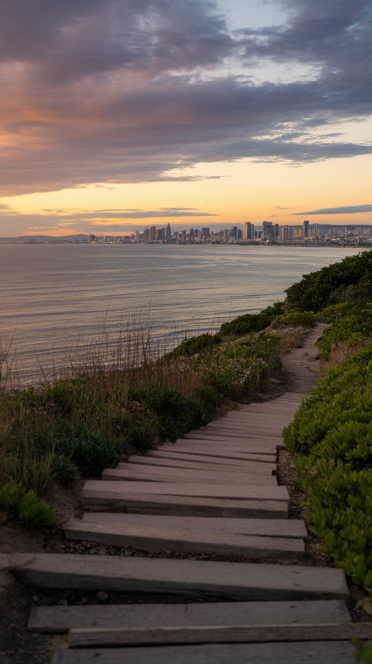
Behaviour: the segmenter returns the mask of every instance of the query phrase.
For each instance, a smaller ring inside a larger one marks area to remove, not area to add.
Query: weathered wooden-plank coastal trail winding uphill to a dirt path
[[[294,391],[243,405],[175,444],[87,481],[68,539],[116,554],[13,554],[4,565],[38,588],[157,594],[142,603],[38,606],[29,629],[68,633],[53,664],[351,664],[343,570],[308,564],[306,527],[288,519],[277,481],[282,428],[316,382],[325,325],[283,359]],[[166,603],[165,596],[174,596]],[[88,602],[88,600],[87,600]]]

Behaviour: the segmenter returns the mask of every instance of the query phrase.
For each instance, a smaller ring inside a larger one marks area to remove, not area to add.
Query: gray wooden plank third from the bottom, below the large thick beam
[[[28,628],[40,633],[66,633],[72,627],[277,625],[280,622],[348,623],[351,616],[343,600],[34,606]]]

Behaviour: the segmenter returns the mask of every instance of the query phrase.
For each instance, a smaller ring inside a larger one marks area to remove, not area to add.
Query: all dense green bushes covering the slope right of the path
[[[371,260],[371,252],[346,258],[288,289],[293,307],[324,306],[318,319],[331,325],[318,341],[323,361],[341,343],[350,357],[324,373],[283,436],[311,529],[336,564],[372,593]],[[358,346],[363,350],[355,353]]]

